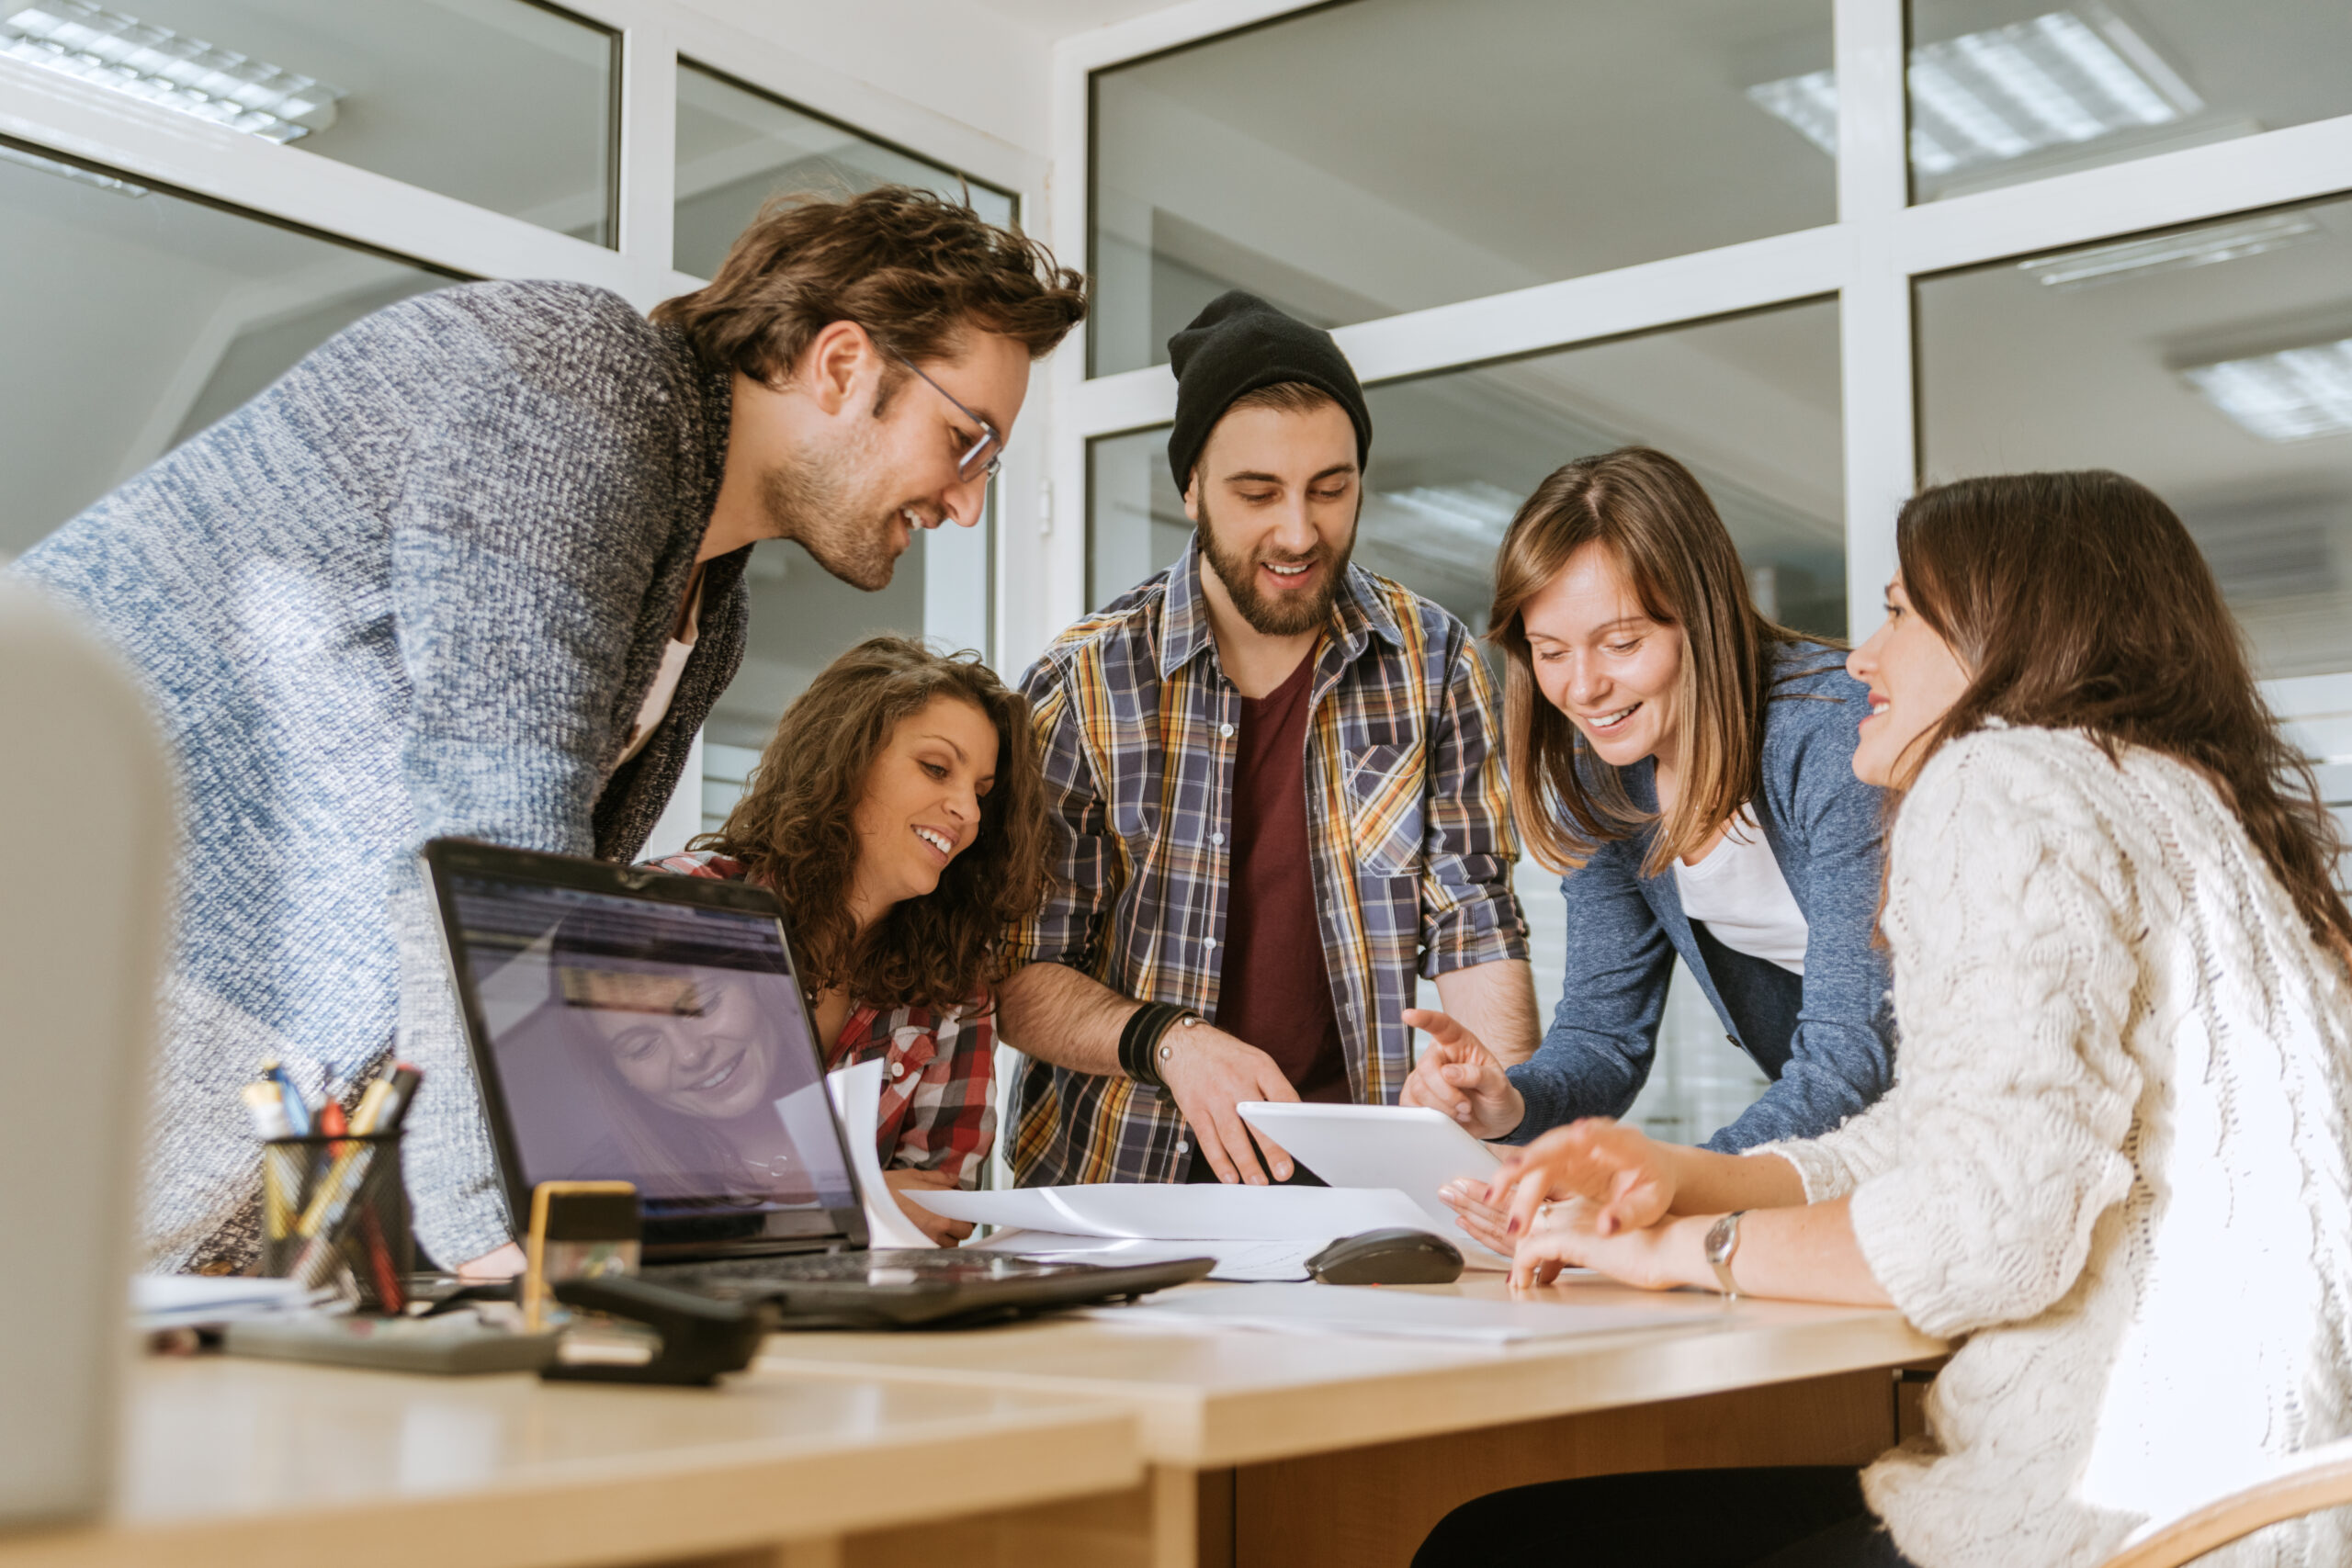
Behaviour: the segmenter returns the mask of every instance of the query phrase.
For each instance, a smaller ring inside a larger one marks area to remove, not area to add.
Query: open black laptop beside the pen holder
[[[633,1182],[644,1279],[788,1328],[1014,1319],[1214,1267],[870,1248],[771,893],[470,839],[423,863],[513,1220],[546,1180]]]

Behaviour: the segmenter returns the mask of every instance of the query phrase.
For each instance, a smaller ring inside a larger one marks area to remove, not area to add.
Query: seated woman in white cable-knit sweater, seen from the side
[[[2352,917],[2211,571],[2110,473],[1922,491],[1898,552],[1849,665],[1872,698],[1853,769],[1898,792],[1893,1091],[1748,1154],[1581,1121],[1491,1199],[1522,1281],[1891,1302],[1964,1340],[1929,1436],[1858,1490],[1795,1469],[1496,1493],[1423,1568],[2098,1563],[2352,1434]],[[2352,1523],[2211,1561],[2345,1563]]]

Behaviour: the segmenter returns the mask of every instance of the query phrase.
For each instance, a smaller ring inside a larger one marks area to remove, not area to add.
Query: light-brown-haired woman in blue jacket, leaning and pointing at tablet
[[[1853,776],[1863,686],[1766,621],[1698,480],[1663,451],[1581,458],[1526,498],[1496,559],[1512,816],[1564,872],[1566,983],[1508,1072],[1461,1023],[1406,1105],[1526,1143],[1642,1093],[1679,957],[1771,1088],[1708,1143],[1825,1133],[1891,1079],[1879,790]],[[1508,1251],[1475,1194],[1463,1227]]]

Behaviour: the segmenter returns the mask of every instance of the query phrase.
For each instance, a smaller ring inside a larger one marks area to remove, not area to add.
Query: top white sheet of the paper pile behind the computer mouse
[[[917,1192],[950,1220],[1138,1241],[1331,1241],[1364,1229],[1430,1229],[1390,1187],[1225,1187],[1096,1182],[1002,1192]]]

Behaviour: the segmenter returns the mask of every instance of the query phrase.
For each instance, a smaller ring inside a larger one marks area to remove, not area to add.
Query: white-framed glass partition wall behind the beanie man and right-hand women
[[[1235,12],[1221,14],[1230,26]],[[1190,536],[1167,339],[1244,287],[1374,404],[1357,559],[1484,630],[1557,463],[1675,451],[1759,604],[1867,635],[1919,480],[2112,465],[2206,548],[2352,802],[2352,12],[2253,0],[1265,2],[1065,47],[1098,277],[1056,475],[1101,604]],[[1068,176],[1065,176],[1068,181]],[[1073,595],[1073,609],[1075,609]],[[1552,879],[1522,865],[1538,1001]],[[1682,978],[1637,1119],[1762,1077]]]

